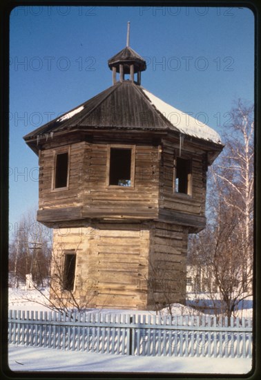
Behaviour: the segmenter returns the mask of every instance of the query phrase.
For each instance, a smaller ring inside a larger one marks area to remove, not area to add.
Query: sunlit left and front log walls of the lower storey
[[[57,267],[63,267],[64,252],[75,250],[73,294],[82,305],[144,309],[146,289],[141,289],[140,278],[148,277],[148,247],[149,231],[141,232],[139,223],[97,223],[89,227],[55,230],[52,277]],[[55,281],[52,287],[55,287]],[[68,291],[58,289],[56,296],[66,299]],[[50,297],[55,301],[55,292],[51,292]]]

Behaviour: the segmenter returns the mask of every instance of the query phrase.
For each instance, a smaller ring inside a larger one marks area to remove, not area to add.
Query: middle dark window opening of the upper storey
[[[110,148],[109,184],[131,186],[131,149]]]

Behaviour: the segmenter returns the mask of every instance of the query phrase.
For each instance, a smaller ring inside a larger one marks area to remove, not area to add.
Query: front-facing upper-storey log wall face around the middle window
[[[90,144],[86,149],[83,215],[86,217],[151,217],[157,213],[157,147],[135,146],[134,187],[111,187],[107,144]]]

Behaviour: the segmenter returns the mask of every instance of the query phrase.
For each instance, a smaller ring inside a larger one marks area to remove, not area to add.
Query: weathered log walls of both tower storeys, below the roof
[[[64,250],[75,250],[75,297],[85,302],[83,286],[91,281],[95,296],[88,299],[88,307],[139,310],[183,302],[187,234],[205,226],[204,152],[198,147],[190,151],[187,142],[182,146],[182,155],[192,158],[188,196],[173,191],[178,153],[171,141],[135,144],[135,181],[130,188],[108,185],[108,144],[71,144],[68,189],[55,191],[55,152],[51,146],[41,152],[37,219],[59,223],[53,245],[58,265],[63,265]],[[65,223],[68,228],[63,230]]]

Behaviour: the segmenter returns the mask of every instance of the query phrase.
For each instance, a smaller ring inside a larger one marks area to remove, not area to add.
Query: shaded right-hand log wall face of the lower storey
[[[148,309],[162,309],[186,298],[188,228],[155,222],[148,262]]]

